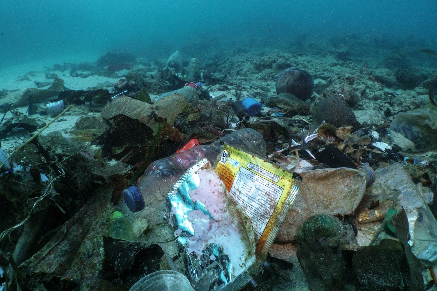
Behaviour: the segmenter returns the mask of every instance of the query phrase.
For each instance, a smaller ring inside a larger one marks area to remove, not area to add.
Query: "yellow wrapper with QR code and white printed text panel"
[[[256,253],[267,255],[299,192],[292,174],[226,144],[215,171],[251,219]]]

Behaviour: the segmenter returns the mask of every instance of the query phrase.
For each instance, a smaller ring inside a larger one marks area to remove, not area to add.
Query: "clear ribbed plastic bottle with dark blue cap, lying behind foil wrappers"
[[[128,208],[132,212],[137,212],[144,209],[145,202],[147,205],[160,204],[174,183],[204,157],[215,166],[215,161],[222,151],[221,142],[257,157],[262,158],[266,155],[266,143],[262,135],[256,130],[245,128],[228,134],[210,145],[193,147],[154,161],[146,169],[138,184],[123,192]]]

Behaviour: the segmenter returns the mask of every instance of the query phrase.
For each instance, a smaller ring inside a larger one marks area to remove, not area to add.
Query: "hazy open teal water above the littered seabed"
[[[275,47],[303,35],[324,41],[351,33],[380,46],[437,50],[436,20],[433,0],[1,1],[0,65],[114,48],[168,57],[182,45],[208,50],[256,39]]]

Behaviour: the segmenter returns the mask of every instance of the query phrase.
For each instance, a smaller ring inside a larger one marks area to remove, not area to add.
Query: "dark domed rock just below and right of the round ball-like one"
[[[338,98],[323,98],[319,104],[311,107],[310,112],[316,123],[325,120],[335,127],[343,127],[344,125],[359,126],[354,112],[347,106],[345,101]]]

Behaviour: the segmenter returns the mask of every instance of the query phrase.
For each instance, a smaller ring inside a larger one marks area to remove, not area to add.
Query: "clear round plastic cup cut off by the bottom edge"
[[[129,291],[194,291],[187,277],[172,270],[156,271],[142,277]]]

